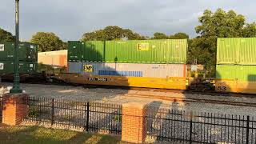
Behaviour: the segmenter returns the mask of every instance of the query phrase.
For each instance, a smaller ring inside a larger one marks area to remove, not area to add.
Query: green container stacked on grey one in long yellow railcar
[[[68,42],[68,81],[186,89],[186,39]],[[66,77],[66,76],[65,76]]]

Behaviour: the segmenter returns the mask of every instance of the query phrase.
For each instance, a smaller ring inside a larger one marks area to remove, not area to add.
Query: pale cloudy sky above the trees
[[[256,21],[255,0],[20,0],[20,37],[54,32],[63,41],[106,26],[121,26],[152,36],[154,32],[196,35],[203,11],[222,8]],[[14,0],[1,0],[0,27],[14,34]]]

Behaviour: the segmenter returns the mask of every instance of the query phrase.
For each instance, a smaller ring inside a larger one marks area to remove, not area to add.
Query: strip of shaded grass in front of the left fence
[[[120,139],[110,135],[86,134],[70,130],[46,129],[38,126],[0,126],[0,143],[90,143],[119,144]]]

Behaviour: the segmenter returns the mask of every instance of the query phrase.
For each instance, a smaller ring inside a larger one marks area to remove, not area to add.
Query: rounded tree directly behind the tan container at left
[[[31,42],[38,44],[38,51],[41,52],[66,49],[66,44],[54,33],[38,32],[33,35]]]

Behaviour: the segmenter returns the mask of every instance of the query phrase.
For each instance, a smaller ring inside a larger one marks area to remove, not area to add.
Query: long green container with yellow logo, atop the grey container
[[[186,63],[187,40],[69,42],[69,62]]]

